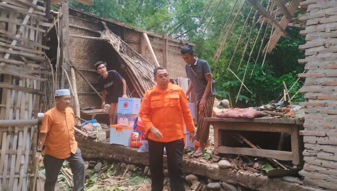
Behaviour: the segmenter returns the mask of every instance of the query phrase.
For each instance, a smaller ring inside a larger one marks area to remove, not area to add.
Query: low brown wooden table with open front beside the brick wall
[[[275,158],[281,161],[292,161],[294,165],[299,165],[303,143],[299,140],[298,132],[303,129],[303,122],[294,119],[225,119],[207,117],[205,121],[210,122],[214,128],[214,153],[243,154],[251,156],[261,156]],[[239,148],[222,146],[222,130],[252,131],[252,132],[278,132],[290,133],[291,152],[281,150],[266,150],[256,148]]]

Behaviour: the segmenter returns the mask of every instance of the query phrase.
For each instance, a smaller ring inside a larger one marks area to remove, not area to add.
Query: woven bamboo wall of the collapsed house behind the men
[[[100,19],[94,18],[93,16],[81,13],[82,16],[78,16],[76,10],[70,9],[69,17],[69,30],[70,35],[80,35],[89,37],[99,37],[99,31],[103,31],[104,27],[100,23]],[[84,15],[83,15],[84,14]],[[80,14],[79,14],[80,15]],[[141,53],[141,41],[142,33],[140,31],[134,30],[132,28],[124,27],[115,23],[110,23],[106,21],[109,29],[113,31],[114,34],[119,36],[123,41],[125,41],[132,49]],[[163,40],[158,35],[149,34],[149,40],[151,42],[154,53],[157,57],[159,65],[163,65]],[[72,60],[75,65],[79,68],[81,73],[86,77],[90,83],[96,83],[98,74],[95,72],[94,63],[99,60],[109,59],[107,55],[107,42],[90,40],[84,38],[74,38],[70,37],[70,60]],[[166,68],[170,73],[171,78],[186,77],[185,63],[180,56],[179,41],[170,39],[168,41],[168,58]],[[111,48],[111,51],[114,51]],[[155,65],[154,60],[149,52],[148,47],[145,47],[145,52],[142,56],[148,60],[152,65]],[[111,56],[110,56],[111,57]],[[114,67],[115,63],[110,63],[110,67]],[[108,69],[109,62],[108,62]],[[114,68],[114,70],[116,70]],[[118,71],[118,70],[117,70]],[[124,71],[118,71],[121,74]],[[97,99],[97,94],[88,86],[84,79],[76,72],[77,80],[77,91],[79,96],[80,106],[95,106],[100,108],[100,99]],[[127,79],[126,79],[127,80]],[[127,83],[131,81],[127,80]],[[132,90],[130,90],[132,91]]]

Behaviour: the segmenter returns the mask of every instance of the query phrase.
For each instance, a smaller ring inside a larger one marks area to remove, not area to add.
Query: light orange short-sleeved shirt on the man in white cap
[[[76,153],[74,125],[75,114],[72,108],[60,111],[56,107],[48,110],[42,122],[40,133],[46,133],[45,154],[56,158],[68,158],[71,153]]]

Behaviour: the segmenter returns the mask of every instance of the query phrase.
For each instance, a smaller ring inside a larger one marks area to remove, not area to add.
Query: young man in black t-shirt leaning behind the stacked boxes
[[[98,84],[99,88],[102,89],[102,109],[104,111],[105,105],[110,104],[110,124],[115,124],[118,98],[127,98],[126,82],[117,71],[107,71],[107,62],[105,61],[95,63],[95,69],[100,74]]]

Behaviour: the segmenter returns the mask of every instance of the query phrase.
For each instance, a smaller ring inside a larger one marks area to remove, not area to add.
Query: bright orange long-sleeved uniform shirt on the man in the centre
[[[168,84],[167,91],[158,86],[146,91],[141,104],[140,117],[149,133],[149,139],[158,142],[171,142],[184,137],[184,121],[188,132],[194,131],[192,114],[188,108],[186,94],[182,88],[172,83]],[[154,126],[163,135],[156,139],[150,128]]]

